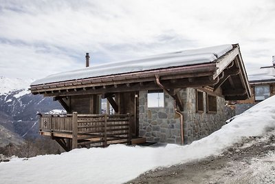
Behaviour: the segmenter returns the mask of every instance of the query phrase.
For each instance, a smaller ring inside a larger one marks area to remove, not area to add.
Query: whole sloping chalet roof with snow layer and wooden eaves
[[[53,74],[31,84],[33,94],[70,96],[165,88],[207,88],[225,100],[251,92],[238,44],[183,50]]]

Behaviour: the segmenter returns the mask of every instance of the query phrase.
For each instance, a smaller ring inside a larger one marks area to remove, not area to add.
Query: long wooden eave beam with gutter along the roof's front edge
[[[162,76],[162,80],[182,79],[196,76],[209,76],[216,70],[215,63],[181,66],[177,68],[164,68],[158,70],[133,72],[130,74],[115,74],[111,76],[99,76],[91,79],[79,79],[74,81],[65,81],[62,83],[52,83],[45,85],[32,85],[32,92],[44,92],[52,90],[66,90],[74,88],[86,88],[100,85],[114,85],[124,83],[136,83],[144,81],[154,81],[155,74]],[[52,89],[52,90],[51,90]]]

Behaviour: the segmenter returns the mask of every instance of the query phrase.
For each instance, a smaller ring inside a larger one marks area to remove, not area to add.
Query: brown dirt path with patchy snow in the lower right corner
[[[275,183],[275,130],[243,140],[218,156],[159,168],[129,183]]]

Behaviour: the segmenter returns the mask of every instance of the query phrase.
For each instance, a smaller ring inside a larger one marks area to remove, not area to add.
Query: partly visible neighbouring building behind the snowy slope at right
[[[275,57],[272,57],[272,62],[272,66],[261,67],[256,73],[248,75],[252,96],[247,100],[234,101],[236,115],[275,94]]]

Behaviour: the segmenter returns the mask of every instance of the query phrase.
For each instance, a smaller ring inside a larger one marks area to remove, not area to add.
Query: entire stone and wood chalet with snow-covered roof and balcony
[[[53,96],[67,111],[40,114],[40,134],[65,150],[142,141],[188,144],[219,130],[225,101],[250,97],[238,44],[53,74],[30,90]]]

